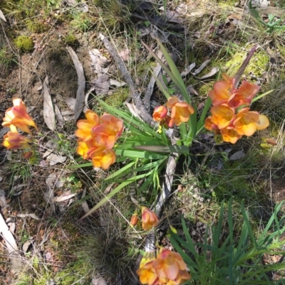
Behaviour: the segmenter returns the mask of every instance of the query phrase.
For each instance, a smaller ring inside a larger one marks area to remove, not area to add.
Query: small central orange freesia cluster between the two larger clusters
[[[170,115],[168,115],[168,109]],[[160,122],[160,126],[172,128],[173,124],[179,126],[182,122],[188,122],[190,116],[194,113],[193,107],[187,102],[179,102],[177,97],[170,97],[166,106],[158,106],[152,114],[156,122]]]

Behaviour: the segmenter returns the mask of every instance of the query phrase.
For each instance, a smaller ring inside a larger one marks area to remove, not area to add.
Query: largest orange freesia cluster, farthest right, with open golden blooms
[[[268,127],[269,120],[248,107],[260,87],[243,81],[235,88],[234,78],[226,74],[222,77],[224,80],[215,82],[214,89],[209,92],[212,116],[205,120],[204,126],[221,135],[223,141],[235,144],[242,136],[252,136],[255,131]]]

